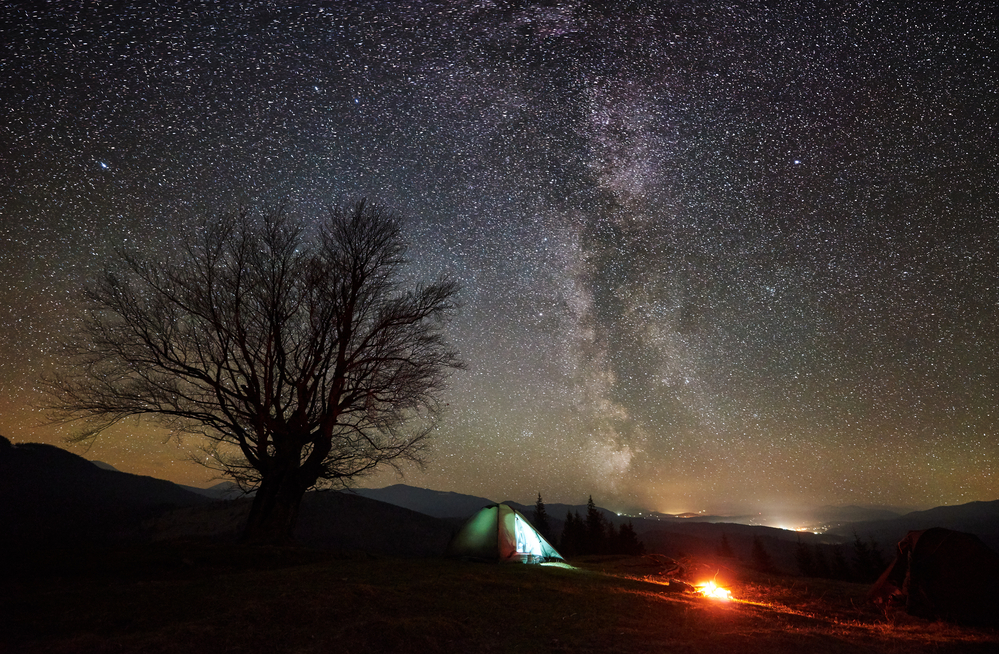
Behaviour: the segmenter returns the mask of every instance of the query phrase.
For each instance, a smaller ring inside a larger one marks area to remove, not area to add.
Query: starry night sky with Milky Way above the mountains
[[[206,213],[366,196],[463,285],[468,370],[405,483],[999,498],[992,3],[39,4],[0,11],[11,440],[207,485],[152,423],[88,452],[44,424],[80,285]]]

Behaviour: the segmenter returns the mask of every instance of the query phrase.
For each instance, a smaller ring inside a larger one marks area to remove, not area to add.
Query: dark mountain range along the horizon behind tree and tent
[[[51,445],[13,445],[0,436],[0,548],[176,538],[234,540],[250,502],[233,494],[229,482],[210,489],[182,487],[120,472]],[[465,518],[493,503],[485,497],[404,484],[310,493],[296,538],[313,547],[435,555]],[[532,517],[533,505],[507,503]],[[556,537],[567,513],[586,513],[585,505],[545,508]],[[778,567],[788,571],[794,569],[799,541],[831,546],[859,536],[874,540],[890,556],[909,530],[933,526],[976,534],[999,550],[999,500],[904,515],[884,509],[824,507],[819,517],[829,529],[823,534],[725,522],[718,516],[619,516],[601,511],[615,525],[631,522],[650,551],[674,557],[713,553],[724,537],[737,556],[748,559],[753,539],[759,538]]]

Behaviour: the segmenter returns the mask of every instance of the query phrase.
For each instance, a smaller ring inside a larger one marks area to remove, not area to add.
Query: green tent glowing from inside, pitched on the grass
[[[562,561],[562,555],[506,504],[490,504],[462,525],[444,556],[500,563]]]

